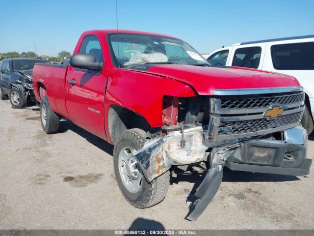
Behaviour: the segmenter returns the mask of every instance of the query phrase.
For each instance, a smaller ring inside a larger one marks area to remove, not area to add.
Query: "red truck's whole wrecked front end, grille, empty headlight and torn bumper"
[[[169,119],[168,126],[157,135],[148,134],[144,147],[133,153],[149,182],[173,166],[208,163],[208,173],[189,206],[188,220],[196,220],[208,206],[219,189],[224,166],[236,171],[309,175],[312,160],[306,158],[307,132],[298,126],[304,93],[250,92],[236,97],[194,98],[191,104],[179,101],[185,112],[178,112],[178,124]],[[277,111],[280,114],[275,116]]]

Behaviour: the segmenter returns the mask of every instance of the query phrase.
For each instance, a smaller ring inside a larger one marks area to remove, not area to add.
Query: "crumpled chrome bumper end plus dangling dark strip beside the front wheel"
[[[219,189],[225,162],[240,144],[209,148],[205,145],[209,144],[206,140],[208,139],[207,127],[202,126],[186,127],[186,129],[181,127],[181,130],[168,133],[164,137],[147,141],[144,147],[135,151],[133,155],[150,182],[172,166],[209,161],[209,172],[197,189],[196,201],[191,203],[186,217],[188,220],[196,220]],[[215,142],[215,144],[225,145],[225,142]]]

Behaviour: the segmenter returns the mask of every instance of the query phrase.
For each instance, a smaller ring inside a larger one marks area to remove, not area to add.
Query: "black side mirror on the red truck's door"
[[[104,63],[96,62],[96,58],[93,55],[79,53],[71,57],[70,65],[78,69],[101,71]]]

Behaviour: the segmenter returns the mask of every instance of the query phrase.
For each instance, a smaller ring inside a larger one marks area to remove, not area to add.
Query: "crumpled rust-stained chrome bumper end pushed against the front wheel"
[[[144,176],[151,182],[173,165],[196,163],[207,158],[208,148],[203,144],[204,138],[203,127],[187,128],[183,133],[175,130],[164,137],[147,141],[142,149],[133,154]]]

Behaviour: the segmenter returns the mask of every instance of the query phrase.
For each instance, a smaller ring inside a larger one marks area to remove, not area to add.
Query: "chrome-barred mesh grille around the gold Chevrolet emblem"
[[[276,118],[267,111],[282,110]],[[215,96],[210,98],[209,136],[214,139],[244,138],[297,126],[304,111],[304,92]]]

